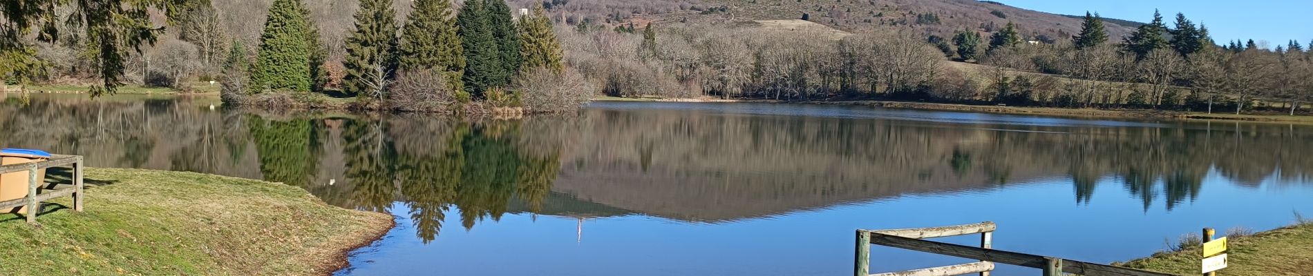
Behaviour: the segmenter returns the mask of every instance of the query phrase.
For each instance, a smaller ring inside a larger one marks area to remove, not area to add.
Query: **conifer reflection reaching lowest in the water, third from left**
[[[440,153],[400,152],[397,179],[410,208],[415,235],[424,243],[432,242],[446,220],[448,204],[456,198],[456,187],[465,164],[460,144],[469,128],[461,127],[445,137],[446,150]]]

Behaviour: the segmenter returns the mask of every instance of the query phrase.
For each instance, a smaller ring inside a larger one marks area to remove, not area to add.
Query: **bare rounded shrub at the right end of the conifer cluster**
[[[566,68],[561,73],[533,69],[521,75],[512,86],[530,112],[566,112],[582,109],[597,92],[579,72]]]

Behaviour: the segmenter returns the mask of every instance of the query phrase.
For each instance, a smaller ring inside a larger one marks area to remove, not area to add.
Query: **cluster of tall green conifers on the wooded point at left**
[[[561,73],[562,48],[545,9],[516,20],[503,0],[466,1],[457,12],[450,0],[418,0],[398,27],[393,0],[362,0],[356,27],[344,42],[341,90],[361,98],[390,97],[398,78],[406,99],[498,99],[502,89],[527,73]],[[318,31],[298,0],[276,0],[249,71],[249,84],[228,77],[230,93],[311,92],[324,88],[326,68]],[[400,29],[400,31],[398,31]],[[398,35],[399,34],[399,35]],[[244,55],[234,51],[235,55]],[[230,58],[232,75],[243,56]],[[436,77],[432,77],[436,76]],[[423,80],[424,82],[416,82]],[[435,97],[418,97],[428,94]]]

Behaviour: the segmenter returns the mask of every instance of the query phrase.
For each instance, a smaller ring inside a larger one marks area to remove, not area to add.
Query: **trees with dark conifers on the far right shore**
[[[1253,41],[1217,46],[1208,27],[1196,25],[1178,13],[1169,27],[1159,13],[1150,24],[1111,43],[1103,18],[1086,13],[1079,34],[1070,42],[1001,47],[1003,41],[1019,39],[1003,29],[991,35],[989,47],[981,46],[974,30],[960,31],[956,50],[945,52],[960,60],[1016,69],[1060,75],[1070,80],[1060,84],[1064,99],[1060,106],[1130,106],[1152,109],[1190,109],[1212,112],[1217,103],[1245,107],[1284,102],[1289,114],[1301,102],[1313,101],[1313,54],[1291,41],[1287,46],[1268,48]],[[1015,43],[1012,43],[1015,44]],[[1025,73],[1020,73],[1025,75]],[[1014,92],[1014,81],[1027,86],[1027,76],[990,77],[997,94]],[[1033,77],[1029,77],[1033,78]],[[1049,80],[1052,82],[1052,80]],[[1061,81],[1060,81],[1061,82]],[[1008,88],[1012,86],[1012,88]],[[1037,99],[1031,98],[1029,103]],[[1011,102],[1027,103],[1027,101]]]

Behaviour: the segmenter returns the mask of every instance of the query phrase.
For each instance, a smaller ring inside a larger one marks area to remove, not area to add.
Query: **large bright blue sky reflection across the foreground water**
[[[404,224],[387,242],[352,258],[356,275],[847,275],[855,229],[939,226],[991,220],[994,247],[1111,263],[1148,256],[1184,233],[1211,226],[1272,229],[1293,212],[1313,213],[1313,186],[1264,181],[1232,184],[1216,171],[1199,198],[1167,211],[1159,199],[1144,209],[1120,179],[1103,178],[1088,203],[1077,204],[1069,178],[1041,179],[969,192],[903,195],[829,209],[726,224],[688,224],[647,216],[588,218],[582,242],[574,217],[507,215],[474,230],[446,228],[429,245]],[[1154,188],[1161,190],[1159,183]],[[444,225],[458,224],[454,212]],[[1253,216],[1262,213],[1263,216]],[[976,245],[978,235],[940,241]],[[872,271],[962,263],[931,254],[872,247]],[[415,266],[423,264],[423,266]],[[1037,273],[1001,267],[1004,275]]]

